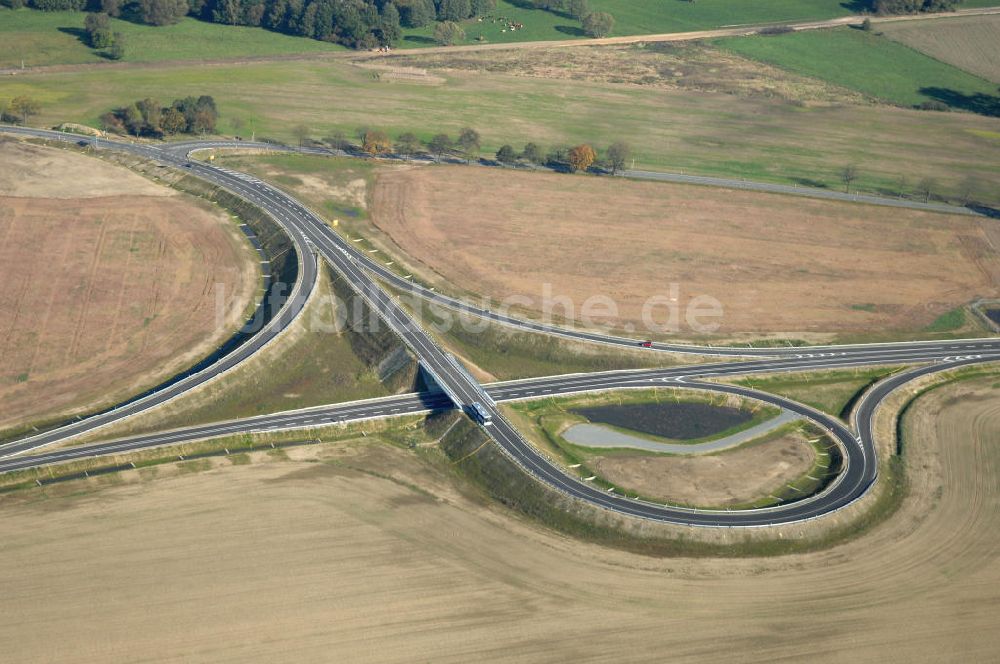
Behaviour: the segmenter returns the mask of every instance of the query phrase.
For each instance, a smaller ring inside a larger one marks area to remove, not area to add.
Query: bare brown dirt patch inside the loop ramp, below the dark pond
[[[686,505],[727,507],[767,497],[802,477],[816,453],[798,433],[706,456],[595,456],[600,477],[629,491]]]

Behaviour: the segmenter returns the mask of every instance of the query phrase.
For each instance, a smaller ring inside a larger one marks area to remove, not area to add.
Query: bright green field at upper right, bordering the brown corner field
[[[731,37],[714,44],[903,106],[938,99],[928,88],[995,95],[996,85],[874,33],[853,28]],[[955,104],[962,108],[961,104]]]

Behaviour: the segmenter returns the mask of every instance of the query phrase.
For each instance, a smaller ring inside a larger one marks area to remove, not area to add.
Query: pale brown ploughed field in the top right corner
[[[879,29],[890,39],[1000,83],[1000,15],[884,23]]]

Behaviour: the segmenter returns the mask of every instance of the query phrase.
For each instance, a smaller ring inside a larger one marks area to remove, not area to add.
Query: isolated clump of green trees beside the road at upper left
[[[162,138],[171,134],[211,134],[219,119],[215,100],[208,96],[175,99],[161,106],[147,97],[101,116],[105,131]]]

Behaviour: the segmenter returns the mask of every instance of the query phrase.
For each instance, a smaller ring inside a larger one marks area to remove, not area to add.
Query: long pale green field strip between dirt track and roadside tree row
[[[339,61],[195,71],[181,65],[129,68],[113,77],[99,70],[27,73],[0,82],[0,99],[27,95],[41,102],[32,124],[43,126],[97,126],[110,108],[137,98],[207,93],[219,104],[224,135],[247,133],[252,124],[258,137],[294,141],[300,123],[322,138],[336,131],[353,135],[377,120],[378,128],[393,135],[413,131],[425,140],[474,127],[483,135],[483,154],[504,143],[604,147],[624,140],[636,146],[638,168],[842,189],[841,169],[857,163],[855,189],[893,195],[900,175],[908,178],[908,190],[933,177],[940,182],[937,195],[956,197],[967,177],[1000,177],[1000,140],[981,135],[1000,132],[1000,121],[960,113],[803,107],[729,94],[471,72],[444,72],[433,81],[391,80]],[[901,163],[906,173],[900,173]]]

